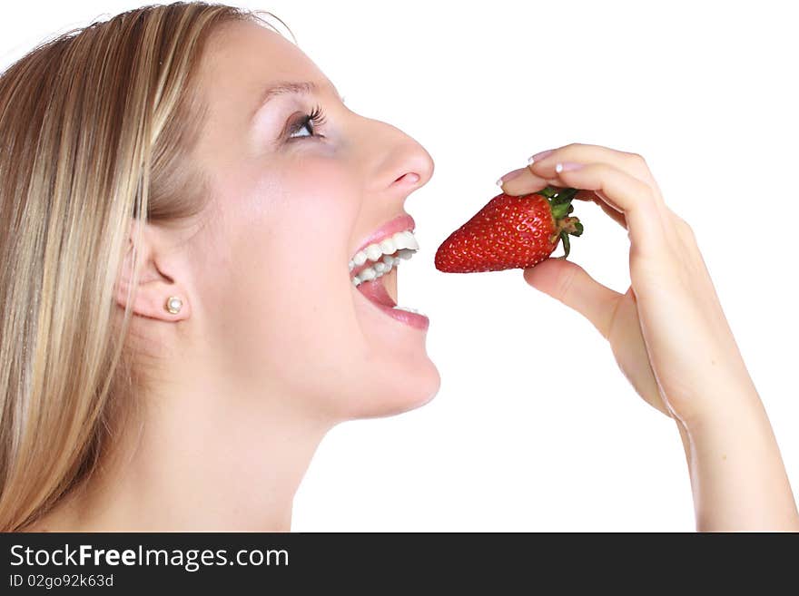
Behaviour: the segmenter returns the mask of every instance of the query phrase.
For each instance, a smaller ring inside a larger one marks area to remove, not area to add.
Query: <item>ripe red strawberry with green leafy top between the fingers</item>
[[[563,240],[568,256],[568,235],[579,236],[583,225],[574,217],[571,201],[577,189],[542,191],[521,197],[499,194],[436,251],[436,269],[445,273],[473,273],[502,269],[528,269],[537,265]]]

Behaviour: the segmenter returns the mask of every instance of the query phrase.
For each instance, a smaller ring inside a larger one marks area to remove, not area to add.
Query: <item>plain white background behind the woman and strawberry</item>
[[[3,3],[0,67],[135,5]],[[626,384],[594,328],[520,270],[433,267],[500,175],[568,142],[643,154],[692,224],[799,488],[791,3],[248,6],[291,27],[350,109],[436,161],[406,204],[421,250],[400,273],[400,304],[431,319],[439,395],[334,429],[297,494],[294,530],[693,530],[676,427]],[[572,259],[624,291],[626,233],[593,204],[576,215],[587,231]]]

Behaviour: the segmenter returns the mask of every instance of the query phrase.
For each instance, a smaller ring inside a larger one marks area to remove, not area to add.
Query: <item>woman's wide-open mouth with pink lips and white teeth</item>
[[[390,233],[402,220],[398,218],[390,222],[382,229],[382,233],[371,238],[370,244],[353,255],[349,264],[350,281],[360,294],[386,315],[410,327],[427,329],[429,318],[415,308],[400,307],[386,288],[387,279],[393,281],[393,287],[396,288],[400,262],[410,259],[419,250],[413,230]]]

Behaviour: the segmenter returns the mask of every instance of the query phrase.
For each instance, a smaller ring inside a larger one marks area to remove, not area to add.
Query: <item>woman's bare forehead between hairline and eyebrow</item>
[[[234,22],[209,39],[200,68],[200,87],[212,112],[224,106],[254,108],[275,81],[330,84],[300,48],[263,25]]]

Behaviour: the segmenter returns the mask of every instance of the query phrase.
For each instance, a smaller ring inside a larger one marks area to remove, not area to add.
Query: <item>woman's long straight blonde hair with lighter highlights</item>
[[[143,221],[204,206],[189,159],[204,109],[197,66],[216,26],[235,20],[263,22],[226,5],[144,6],[59,35],[0,74],[4,532],[82,485],[134,405],[131,296],[120,329],[114,285]]]

